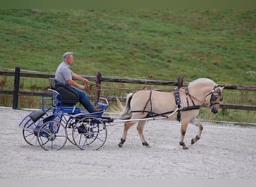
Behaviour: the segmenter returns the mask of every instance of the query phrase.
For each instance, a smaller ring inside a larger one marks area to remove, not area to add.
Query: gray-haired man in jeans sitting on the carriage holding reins
[[[63,61],[59,64],[56,72],[55,72],[55,80],[61,84],[69,85],[74,91],[79,94],[79,102],[91,113],[101,111],[102,108],[94,107],[91,104],[88,97],[85,94],[85,86],[79,85],[73,81],[73,79],[77,79],[82,81],[83,83],[88,83],[88,79],[83,78],[82,76],[73,73],[70,70],[70,65],[73,63],[73,53],[66,52],[63,55]]]

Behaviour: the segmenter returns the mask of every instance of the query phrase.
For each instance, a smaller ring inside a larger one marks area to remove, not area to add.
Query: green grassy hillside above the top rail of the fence
[[[256,10],[0,10],[0,69],[255,85]]]

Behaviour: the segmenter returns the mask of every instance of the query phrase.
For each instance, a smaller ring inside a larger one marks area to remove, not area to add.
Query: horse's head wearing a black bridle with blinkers
[[[210,104],[211,111],[213,114],[218,113],[219,111],[219,102],[222,101],[222,90],[224,87],[221,87],[219,85],[215,85],[213,90],[210,91],[210,93],[207,93],[205,96],[205,100],[207,103]]]

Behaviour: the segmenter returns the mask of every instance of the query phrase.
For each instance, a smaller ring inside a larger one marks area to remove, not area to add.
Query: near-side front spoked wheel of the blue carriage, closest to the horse
[[[81,150],[99,150],[106,138],[106,125],[96,117],[84,117],[73,126],[73,141]]]

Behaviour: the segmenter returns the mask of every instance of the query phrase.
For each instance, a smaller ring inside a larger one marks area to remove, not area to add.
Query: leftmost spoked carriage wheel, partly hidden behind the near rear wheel
[[[34,129],[36,128],[36,124],[33,120],[31,120],[30,117],[28,117],[28,120],[26,120],[23,129],[22,129],[22,135],[25,139],[25,142],[27,142],[29,145],[34,146],[37,144],[37,135],[34,132]]]

